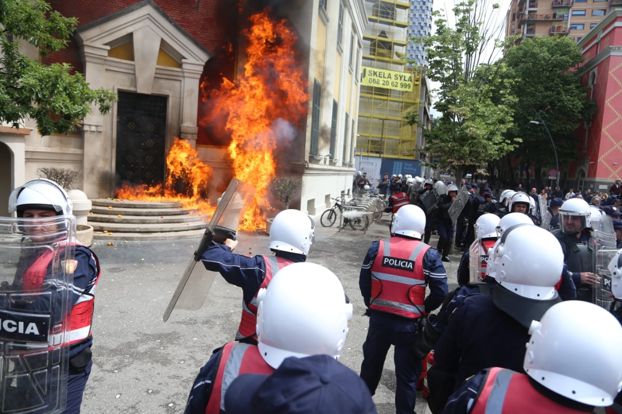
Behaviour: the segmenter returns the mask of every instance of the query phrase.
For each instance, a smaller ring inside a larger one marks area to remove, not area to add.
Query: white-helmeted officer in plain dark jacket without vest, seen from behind
[[[550,232],[530,224],[503,232],[486,268],[496,278],[492,295],[466,298],[435,344],[436,365],[427,374],[433,412],[481,369],[522,369],[531,321],[560,301],[555,284],[563,266],[562,249]]]

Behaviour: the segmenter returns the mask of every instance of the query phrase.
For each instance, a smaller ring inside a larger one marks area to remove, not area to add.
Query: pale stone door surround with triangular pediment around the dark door
[[[75,34],[93,88],[167,98],[165,148],[174,137],[195,145],[199,78],[211,57],[152,0],[78,27]],[[116,172],[119,114],[101,116],[95,108],[83,124],[84,182],[90,198],[112,196]],[[165,155],[164,155],[165,157]]]

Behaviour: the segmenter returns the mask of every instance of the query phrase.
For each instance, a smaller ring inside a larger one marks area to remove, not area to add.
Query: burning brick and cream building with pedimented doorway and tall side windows
[[[210,73],[234,81],[245,62],[243,48],[225,63],[216,58],[229,45],[228,32],[238,27],[225,18],[238,10],[234,4],[49,2],[63,16],[77,17],[78,27],[69,47],[47,62],[70,63],[91,87],[115,91],[119,100],[106,115],[93,108],[80,131],[66,136],[42,137],[29,120],[22,129],[0,127],[0,159],[11,166],[11,173],[0,178],[0,195],[7,198],[11,188],[36,178],[40,167],[80,170],[78,187],[90,198],[114,196],[124,180],[162,182],[176,137],[192,144],[220,177],[231,176],[223,155],[227,143],[202,142],[198,124],[204,115],[202,85]],[[270,3],[307,46],[301,65],[309,80],[309,112],[302,115],[300,145],[281,172],[304,182],[300,205],[294,206],[319,214],[331,197],[351,188],[366,12],[363,0]],[[37,58],[37,50],[24,49]],[[210,67],[213,62],[216,68]],[[135,168],[136,157],[141,162]],[[216,173],[214,179],[218,181]]]

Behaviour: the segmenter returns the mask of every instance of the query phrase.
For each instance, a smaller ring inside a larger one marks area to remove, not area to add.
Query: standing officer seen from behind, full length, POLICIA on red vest
[[[412,413],[421,361],[412,346],[416,320],[437,308],[447,295],[447,275],[439,252],[421,242],[425,214],[403,206],[393,217],[391,237],[375,241],[363,260],[359,287],[368,307],[369,330],[363,344],[361,378],[372,395],[383,374],[384,359],[394,346],[396,412]],[[430,294],[425,297],[425,286]]]

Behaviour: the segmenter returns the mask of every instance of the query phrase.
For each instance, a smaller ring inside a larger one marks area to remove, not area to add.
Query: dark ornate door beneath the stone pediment
[[[116,134],[116,188],[164,182],[165,96],[119,92]]]

